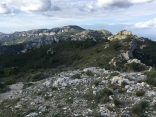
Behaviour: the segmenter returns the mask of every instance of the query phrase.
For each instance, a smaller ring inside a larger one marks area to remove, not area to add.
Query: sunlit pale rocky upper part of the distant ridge
[[[53,29],[35,29],[12,34],[0,33],[2,45],[14,45],[20,43],[51,44],[52,41],[59,40],[85,40],[86,38],[107,38],[112,33],[107,30],[85,30],[79,26],[63,26]],[[38,46],[38,44],[36,45]]]

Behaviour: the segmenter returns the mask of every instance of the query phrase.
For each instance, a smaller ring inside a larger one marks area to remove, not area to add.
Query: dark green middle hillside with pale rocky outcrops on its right
[[[130,72],[143,71],[148,69],[148,66],[155,66],[156,42],[138,38],[126,31],[122,33],[123,31],[117,33],[109,40],[87,38],[84,41],[53,41],[51,45],[27,49],[26,53],[1,56],[0,77],[50,68],[74,69],[94,66]]]

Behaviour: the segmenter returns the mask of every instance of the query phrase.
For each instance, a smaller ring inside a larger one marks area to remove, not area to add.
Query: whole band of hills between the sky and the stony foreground
[[[107,30],[64,26],[7,36],[1,36],[1,68],[15,66],[25,71],[58,66],[99,66],[141,71],[156,65],[156,43],[127,30],[112,35]]]

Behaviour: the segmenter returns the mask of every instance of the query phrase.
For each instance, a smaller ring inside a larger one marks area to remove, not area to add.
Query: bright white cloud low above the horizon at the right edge
[[[154,28],[156,27],[156,18],[147,22],[136,23],[132,28]]]

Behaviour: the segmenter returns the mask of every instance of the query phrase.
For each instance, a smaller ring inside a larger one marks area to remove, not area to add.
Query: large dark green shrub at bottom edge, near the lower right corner
[[[140,101],[139,103],[133,105],[132,113],[137,117],[145,117],[145,111],[149,107],[149,103],[147,101]]]

